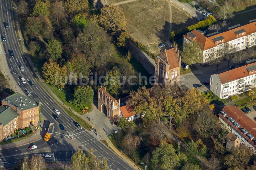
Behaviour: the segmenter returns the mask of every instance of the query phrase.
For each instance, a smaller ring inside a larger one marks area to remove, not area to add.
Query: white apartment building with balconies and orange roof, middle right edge
[[[256,63],[247,64],[210,77],[210,90],[226,99],[256,87]]]

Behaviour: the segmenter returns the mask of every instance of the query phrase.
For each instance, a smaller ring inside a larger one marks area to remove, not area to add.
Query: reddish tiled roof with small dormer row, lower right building
[[[236,106],[225,106],[223,108],[223,111],[227,113],[226,117],[222,116],[221,113],[219,113],[219,117],[224,119],[226,123],[228,123],[232,128],[236,129],[238,133],[240,133],[244,138],[246,138],[254,147],[256,147],[254,143],[254,139],[256,139],[256,123],[250,119],[247,115],[245,115],[239,108]],[[238,122],[241,126],[239,128],[236,128],[233,123],[228,121],[228,117],[232,117],[234,122]],[[247,135],[244,135],[241,131],[242,128],[245,128],[248,133],[251,133],[252,136],[254,136],[253,140],[249,139]]]

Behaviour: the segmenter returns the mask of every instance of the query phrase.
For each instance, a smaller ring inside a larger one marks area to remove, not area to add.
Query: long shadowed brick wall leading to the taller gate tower
[[[155,60],[153,58],[142,52],[132,41],[129,41],[128,50],[130,50],[132,57],[136,58],[149,74],[154,75]]]

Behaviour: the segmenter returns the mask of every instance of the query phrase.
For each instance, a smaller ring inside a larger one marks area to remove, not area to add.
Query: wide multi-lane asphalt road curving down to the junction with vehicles
[[[69,163],[70,161],[70,153],[74,152],[78,148],[81,148],[85,151],[88,151],[89,149],[94,149],[94,155],[96,155],[99,158],[107,158],[108,159],[108,165],[111,166],[111,169],[134,169],[129,164],[127,164],[124,160],[122,160],[118,155],[116,155],[112,150],[110,150],[108,147],[106,147],[102,142],[98,140],[96,136],[92,136],[86,129],[84,128],[77,128],[73,124],[73,119],[45,92],[45,90],[41,87],[41,85],[37,82],[35,77],[33,76],[32,72],[29,70],[29,67],[26,63],[26,60],[22,54],[22,51],[19,47],[18,38],[15,32],[14,27],[14,20],[12,15],[12,10],[10,8],[11,1],[10,0],[0,0],[1,5],[1,13],[0,13],[0,20],[2,20],[2,24],[0,25],[0,34],[1,37],[6,37],[6,41],[2,43],[2,55],[1,58],[5,59],[6,57],[8,66],[11,68],[12,66],[16,65],[16,67],[13,67],[11,70],[11,74],[13,75],[15,82],[17,83],[17,86],[19,86],[24,92],[28,90],[31,92],[32,95],[29,96],[30,99],[35,100],[36,102],[41,102],[41,112],[43,113],[42,118],[43,120],[46,120],[42,126],[41,136],[42,139],[34,142],[33,144],[36,144],[38,147],[36,150],[29,150],[28,147],[33,145],[24,145],[20,147],[13,147],[8,150],[0,150],[0,167],[10,167],[15,164],[17,164],[18,161],[22,157],[24,157],[25,154],[28,154],[29,156],[33,154],[44,154],[48,152],[42,152],[42,150],[45,150],[43,148],[49,147],[51,144],[55,144],[56,142],[59,142],[59,145],[56,145],[54,149],[50,148],[49,151],[54,151],[57,154],[57,161],[66,161],[66,163]],[[9,29],[5,29],[5,23],[9,24]],[[9,54],[9,51],[13,50],[14,57],[11,57]],[[20,66],[23,66],[25,71],[20,70]],[[26,84],[22,84],[20,81],[20,78],[24,77],[26,80]],[[32,81],[35,86],[30,86],[28,84],[28,81]],[[14,84],[15,86],[16,84]],[[59,116],[59,120],[55,120],[52,117],[52,113],[54,113],[54,109],[58,109],[61,114]],[[48,129],[49,123],[55,123],[55,129],[54,129],[54,135],[49,140],[49,142],[45,142],[43,140],[43,137],[45,135],[45,128]],[[42,122],[43,123],[43,122]],[[65,131],[61,131],[59,128],[59,124],[63,124],[65,126]],[[76,130],[76,131],[74,131]],[[74,133],[73,140],[68,140],[65,135],[69,133]],[[66,145],[66,148],[64,147],[64,144]],[[62,147],[63,145],[63,147]],[[40,150],[39,150],[40,149]],[[67,153],[65,154],[63,152],[63,149],[67,150]],[[58,156],[59,155],[59,156]]]

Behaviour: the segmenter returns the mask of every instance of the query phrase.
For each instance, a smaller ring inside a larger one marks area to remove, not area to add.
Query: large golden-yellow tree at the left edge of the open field
[[[100,9],[101,15],[92,17],[94,23],[99,23],[107,32],[114,34],[116,31],[124,29],[127,20],[123,11],[118,6],[109,4]]]

